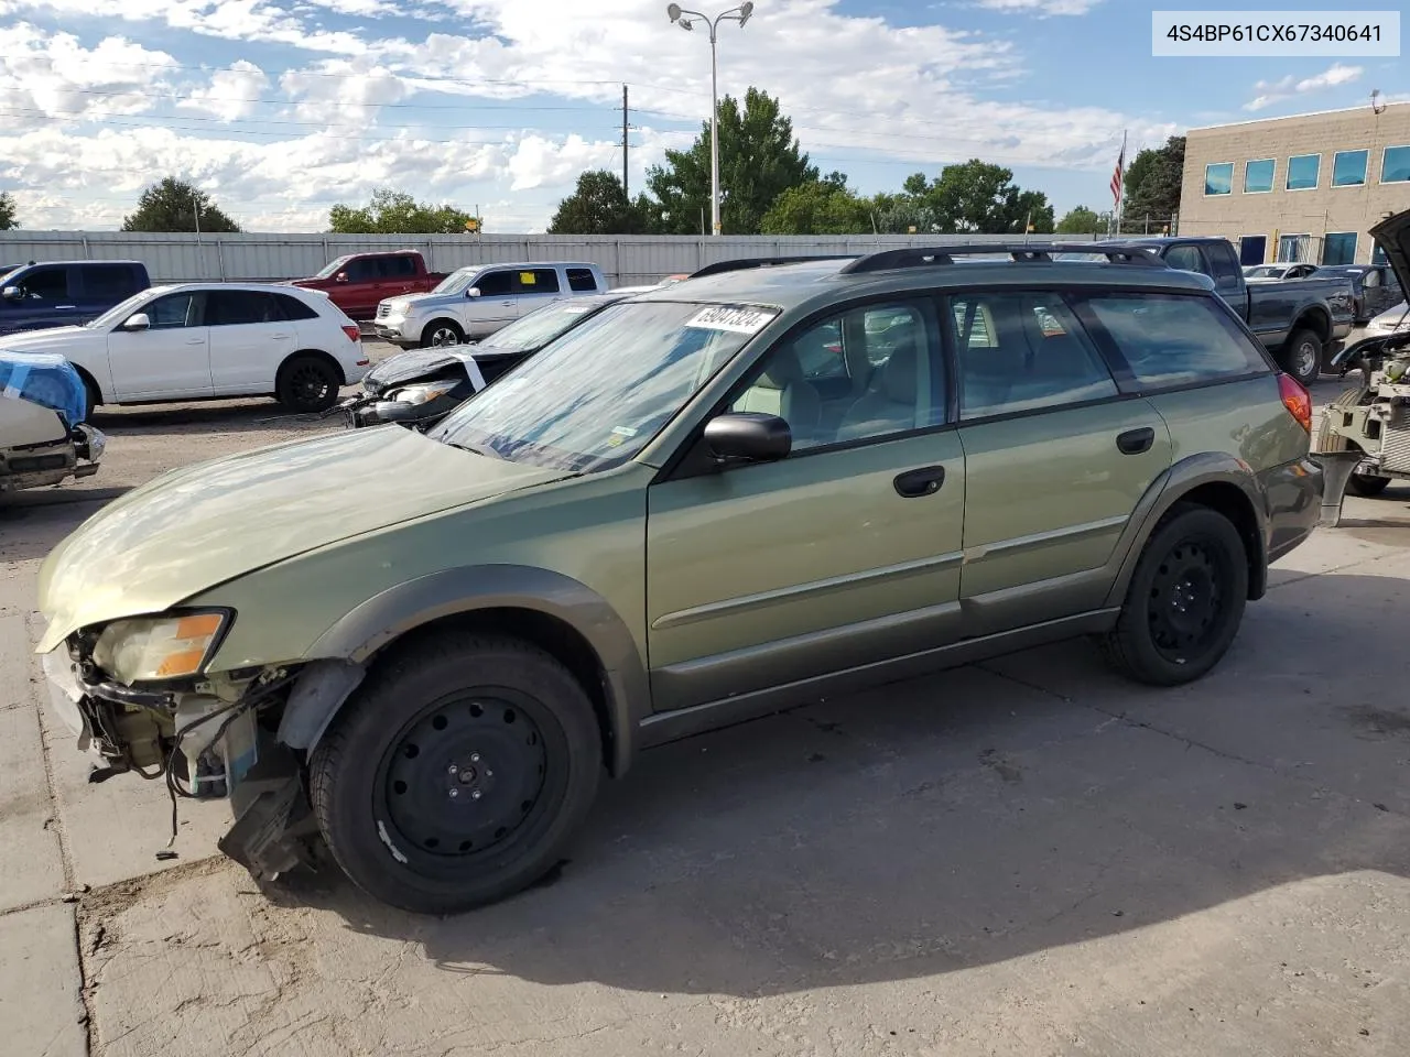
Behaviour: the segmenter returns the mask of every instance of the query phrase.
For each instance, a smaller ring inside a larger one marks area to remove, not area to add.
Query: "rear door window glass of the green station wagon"
[[[1118,395],[1072,304],[1050,290],[977,292],[950,302],[960,419],[1063,407]]]

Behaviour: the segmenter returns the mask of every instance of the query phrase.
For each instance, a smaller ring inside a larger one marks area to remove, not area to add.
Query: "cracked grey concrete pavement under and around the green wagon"
[[[337,428],[99,424],[96,478],[0,509],[3,1054],[1410,1051],[1410,488],[1279,562],[1197,685],[1077,643],[654,750],[551,884],[440,920],[262,891],[220,803],[161,863],[161,784],[86,784],[30,654],[42,557],[169,465]]]

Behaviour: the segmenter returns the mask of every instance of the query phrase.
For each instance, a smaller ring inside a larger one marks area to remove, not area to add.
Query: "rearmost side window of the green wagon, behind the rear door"
[[[1083,309],[1129,369],[1124,392],[1268,373],[1268,361],[1213,297],[1101,293]],[[1125,375],[1127,372],[1118,372]]]

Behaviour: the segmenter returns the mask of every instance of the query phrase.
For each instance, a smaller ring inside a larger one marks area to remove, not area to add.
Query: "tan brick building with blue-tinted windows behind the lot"
[[[1179,231],[1222,235],[1244,264],[1368,264],[1368,230],[1404,209],[1410,103],[1186,134]]]

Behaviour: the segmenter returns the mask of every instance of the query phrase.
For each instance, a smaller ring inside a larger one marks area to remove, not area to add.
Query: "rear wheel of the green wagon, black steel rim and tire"
[[[1141,552],[1103,653],[1136,682],[1193,682],[1228,651],[1246,600],[1248,551],[1238,530],[1215,510],[1177,503]]]

